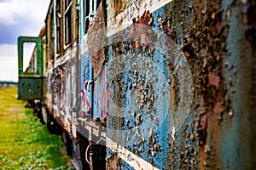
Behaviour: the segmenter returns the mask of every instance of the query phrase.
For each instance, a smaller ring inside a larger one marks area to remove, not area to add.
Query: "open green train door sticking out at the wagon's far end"
[[[18,99],[42,99],[43,81],[44,81],[44,59],[41,45],[41,37],[19,37],[18,38],[18,58],[19,58],[19,82],[18,82]],[[33,49],[30,62],[24,70],[24,43],[33,42]]]

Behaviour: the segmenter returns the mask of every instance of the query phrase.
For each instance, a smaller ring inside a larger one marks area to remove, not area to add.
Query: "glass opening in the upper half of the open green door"
[[[37,72],[37,43],[23,43],[23,71],[26,73]]]

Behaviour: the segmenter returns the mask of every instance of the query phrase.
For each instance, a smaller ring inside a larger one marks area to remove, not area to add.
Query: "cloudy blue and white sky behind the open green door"
[[[0,81],[18,82],[17,38],[38,37],[50,0],[0,0]],[[29,51],[29,45],[27,51]],[[29,53],[29,52],[26,52]],[[29,58],[26,57],[24,65]]]

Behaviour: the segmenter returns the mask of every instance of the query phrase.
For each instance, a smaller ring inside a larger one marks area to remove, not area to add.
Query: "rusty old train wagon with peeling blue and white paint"
[[[255,1],[52,0],[41,98],[77,169],[253,169]]]

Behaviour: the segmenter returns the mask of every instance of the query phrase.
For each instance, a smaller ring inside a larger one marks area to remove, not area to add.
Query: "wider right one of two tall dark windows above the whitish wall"
[[[65,0],[65,44],[68,45],[72,41],[72,0]]]

